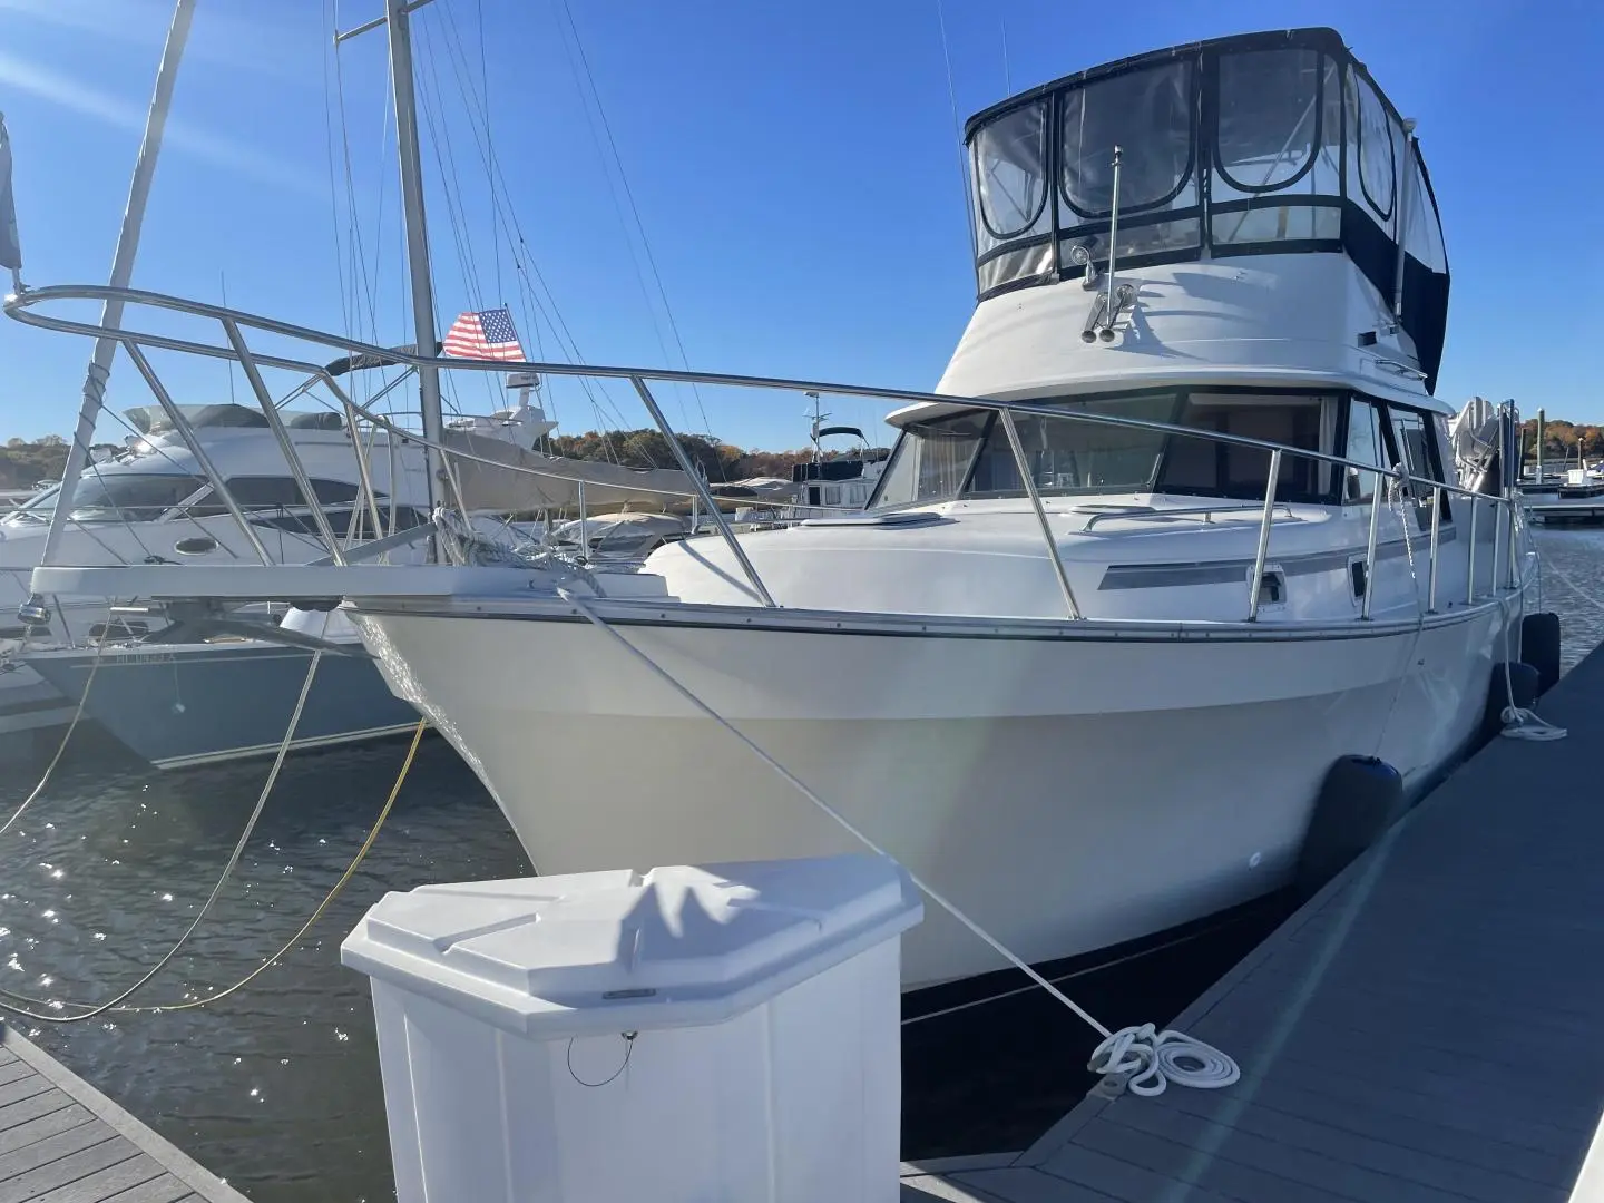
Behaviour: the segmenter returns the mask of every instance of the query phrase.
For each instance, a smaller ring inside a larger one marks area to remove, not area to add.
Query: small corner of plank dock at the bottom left
[[[249,1200],[6,1027],[0,1203]]]

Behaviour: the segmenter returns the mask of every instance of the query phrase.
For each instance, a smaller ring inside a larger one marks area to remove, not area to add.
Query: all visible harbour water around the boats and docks
[[[1604,531],[1541,533],[1543,605],[1566,667],[1604,640]],[[233,879],[194,938],[133,1001],[228,986],[281,948],[345,871],[407,741],[290,759]],[[42,765],[0,773],[0,815]],[[0,836],[0,990],[96,1003],[127,990],[192,921],[268,773],[260,762],[148,768],[74,739],[50,789]],[[276,967],[229,998],[168,1014],[16,1027],[258,1203],[391,1198],[367,980],[338,943],[388,890],[529,871],[500,812],[427,736],[377,844]],[[1165,1022],[1240,959],[1286,903],[1182,948],[1067,983],[1116,1023]],[[1081,1097],[1094,1038],[1041,991],[905,1030],[906,1156],[1022,1148]]]

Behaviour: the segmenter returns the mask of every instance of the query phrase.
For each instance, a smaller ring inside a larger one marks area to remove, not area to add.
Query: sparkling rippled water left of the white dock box
[[[290,759],[210,916],[133,1001],[212,993],[281,948],[345,871],[406,747]],[[96,1003],[132,985],[192,921],[268,765],[168,775],[115,747],[75,751],[0,837],[0,990]],[[8,815],[37,768],[5,776]],[[13,1022],[255,1200],[390,1198],[367,980],[340,967],[338,943],[387,889],[526,873],[489,796],[443,739],[425,736],[350,885],[245,990],[172,1014]]]

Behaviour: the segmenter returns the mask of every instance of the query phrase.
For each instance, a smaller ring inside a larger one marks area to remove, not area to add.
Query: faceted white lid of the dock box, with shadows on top
[[[885,857],[618,869],[387,893],[340,961],[555,1039],[719,1023],[921,914]]]

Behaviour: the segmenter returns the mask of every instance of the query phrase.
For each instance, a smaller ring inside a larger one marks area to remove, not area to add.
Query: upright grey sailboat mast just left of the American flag
[[[423,0],[427,3],[428,0]],[[417,148],[417,98],[412,90],[411,13],[419,0],[385,0],[390,34],[390,85],[396,109],[396,149],[401,159],[401,215],[406,225],[406,257],[412,282],[412,330],[419,354],[435,356],[435,287],[428,269],[428,225],[423,218],[423,167]],[[439,462],[441,411],[439,369],[417,372],[423,411],[425,457],[428,462],[428,505],[433,512],[436,486],[443,484]]]

